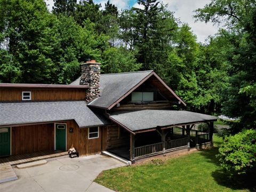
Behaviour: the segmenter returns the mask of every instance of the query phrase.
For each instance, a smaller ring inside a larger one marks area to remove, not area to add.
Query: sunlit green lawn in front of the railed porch
[[[253,177],[230,178],[218,159],[221,138],[213,149],[166,159],[163,164],[138,164],[103,171],[95,182],[116,191],[255,191]]]

